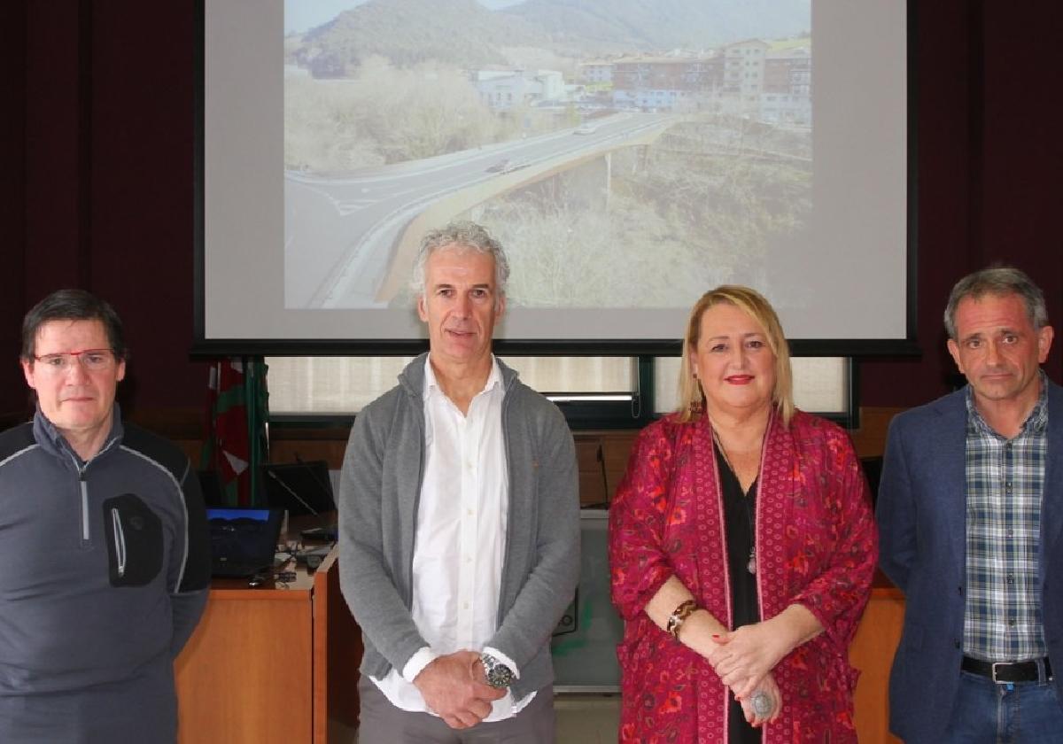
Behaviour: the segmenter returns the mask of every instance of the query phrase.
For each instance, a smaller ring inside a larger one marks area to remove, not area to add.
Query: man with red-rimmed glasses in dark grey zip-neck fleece
[[[82,290],[22,324],[37,410],[0,434],[0,742],[176,739],[173,660],[210,543],[188,458],[122,423],[126,356],[114,309]]]

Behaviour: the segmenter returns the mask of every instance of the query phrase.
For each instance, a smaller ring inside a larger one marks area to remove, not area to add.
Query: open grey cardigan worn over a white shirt
[[[339,575],[361,626],[361,672],[402,671],[428,644],[410,616],[418,504],[424,477],[424,365],[355,419],[339,492]],[[499,596],[499,629],[487,645],[511,658],[516,699],[550,684],[551,632],[579,579],[575,446],[554,404],[499,362],[502,428],[509,471],[509,518]]]

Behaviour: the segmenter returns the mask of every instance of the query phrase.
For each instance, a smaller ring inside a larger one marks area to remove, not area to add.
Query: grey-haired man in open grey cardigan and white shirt
[[[429,351],[351,432],[340,580],[365,640],[361,744],[554,741],[575,450],[560,411],[491,353],[508,274],[479,225],[428,233],[414,285]]]

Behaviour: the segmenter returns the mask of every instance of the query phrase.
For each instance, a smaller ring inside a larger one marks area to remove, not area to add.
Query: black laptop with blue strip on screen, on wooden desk
[[[212,575],[243,578],[273,568],[284,509],[226,507],[206,510]]]

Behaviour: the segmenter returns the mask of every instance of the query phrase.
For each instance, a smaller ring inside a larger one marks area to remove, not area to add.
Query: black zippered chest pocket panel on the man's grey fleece
[[[163,521],[139,496],[103,502],[112,587],[142,587],[163,569]]]

